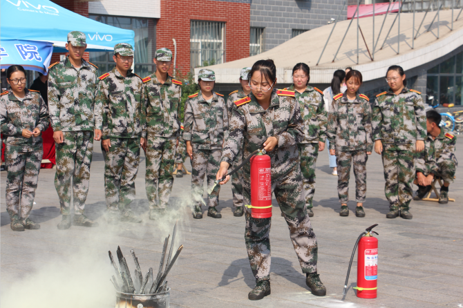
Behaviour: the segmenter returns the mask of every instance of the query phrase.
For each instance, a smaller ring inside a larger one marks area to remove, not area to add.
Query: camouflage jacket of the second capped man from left
[[[100,76],[95,97],[95,128],[102,130],[102,139],[146,137],[146,110],[142,104],[143,81],[117,68]]]

